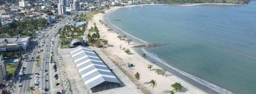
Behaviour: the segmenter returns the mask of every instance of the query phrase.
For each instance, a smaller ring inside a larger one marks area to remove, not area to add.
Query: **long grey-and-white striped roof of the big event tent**
[[[91,48],[78,46],[70,49],[70,54],[88,89],[105,81],[120,83]]]

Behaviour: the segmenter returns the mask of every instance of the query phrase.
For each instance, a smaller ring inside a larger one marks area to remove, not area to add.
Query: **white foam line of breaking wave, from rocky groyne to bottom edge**
[[[200,78],[198,78],[198,77],[196,77],[196,76],[190,75],[190,74],[188,74],[188,73],[186,73],[186,72],[183,72],[183,71],[181,71],[181,70],[179,70],[179,69],[177,69],[177,68],[174,68],[174,67],[168,65],[163,59],[160,59],[160,58],[159,58],[157,55],[155,55],[154,53],[150,53],[150,52],[146,51],[144,48],[142,48],[142,51],[143,51],[146,55],[150,56],[150,58],[155,59],[155,60],[157,60],[157,61],[160,62],[160,63],[163,63],[164,65],[166,65],[166,66],[168,66],[168,67],[174,69],[175,71],[181,73],[182,75],[187,76],[187,77],[189,77],[189,78],[195,80],[196,82],[198,82],[198,83],[200,83],[200,84],[203,84],[203,85],[207,86],[208,88],[213,89],[214,91],[216,91],[216,92],[218,92],[218,93],[220,93],[220,94],[234,94],[234,93],[232,93],[232,92],[227,91],[226,89],[220,88],[220,87],[218,87],[218,86],[216,86],[216,85],[214,85],[214,84],[211,84],[211,83],[209,83],[209,82],[207,82],[207,81],[205,81],[205,80],[203,80],[203,79],[200,79]]]

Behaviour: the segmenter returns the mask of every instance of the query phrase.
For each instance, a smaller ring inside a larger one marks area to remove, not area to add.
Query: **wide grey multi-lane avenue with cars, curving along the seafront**
[[[62,24],[56,23],[52,29],[46,29],[44,33],[45,38],[43,38],[43,35],[39,35],[38,39],[36,41],[32,41],[30,43],[30,51],[28,53],[31,53],[31,55],[28,55],[28,61],[22,62],[22,67],[26,67],[24,74],[25,76],[22,77],[21,83],[17,83],[16,90],[18,94],[28,94],[28,88],[29,86],[35,86],[34,81],[35,81],[35,73],[39,73],[40,77],[38,79],[39,81],[39,88],[35,88],[35,91],[45,93],[45,89],[48,89],[47,92],[56,92],[60,91],[63,87],[55,86],[55,83],[60,83],[59,79],[55,80],[54,79],[54,74],[57,73],[59,74],[58,70],[57,72],[54,72],[53,65],[51,63],[51,51],[54,50],[55,46],[55,39],[54,37],[58,31],[59,28],[63,27],[65,24],[68,24],[68,22],[72,22],[72,20],[62,20]],[[49,35],[47,37],[47,35]],[[44,46],[42,46],[42,41],[45,41]],[[41,46],[41,47],[40,47]],[[39,48],[40,47],[40,48]],[[44,49],[40,53],[37,53],[40,51],[40,49]],[[36,54],[33,54],[36,53]],[[40,55],[41,54],[41,55]],[[41,67],[36,66],[36,57],[37,56],[41,57]],[[34,57],[34,59],[32,59]],[[57,64],[57,69],[59,68]],[[45,73],[47,75],[45,75]],[[61,76],[61,75],[59,75]]]

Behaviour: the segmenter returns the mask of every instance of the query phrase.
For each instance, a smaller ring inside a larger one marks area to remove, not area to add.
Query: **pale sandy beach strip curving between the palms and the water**
[[[131,6],[129,6],[131,7]],[[121,7],[111,7],[110,10],[106,10],[106,13],[109,13],[113,10],[116,10]],[[88,29],[90,27],[94,27],[93,23],[96,23],[96,26],[99,29],[99,33],[101,35],[102,39],[108,40],[108,45],[104,49],[101,49],[117,66],[123,67],[123,72],[128,70],[128,75],[130,75],[130,79],[133,80],[135,84],[137,84],[137,81],[134,79],[134,74],[136,72],[139,72],[141,74],[141,80],[139,80],[139,84],[141,84],[141,90],[145,94],[149,94],[152,92],[152,87],[150,87],[150,80],[156,80],[157,87],[154,88],[154,94],[169,94],[173,88],[171,87],[171,84],[174,84],[175,82],[180,82],[184,88],[181,92],[176,92],[175,94],[207,94],[206,92],[200,90],[199,88],[196,88],[195,86],[189,84],[188,82],[178,78],[175,75],[172,75],[171,73],[167,72],[166,76],[158,75],[155,73],[155,69],[161,67],[151,63],[150,61],[145,59],[145,63],[143,63],[143,58],[141,55],[137,54],[134,49],[131,47],[132,45],[136,45],[135,43],[130,43],[128,45],[127,42],[124,40],[119,40],[117,38],[118,34],[115,32],[108,32],[108,27],[105,27],[102,25],[99,20],[102,20],[101,17],[106,16],[106,14],[96,14],[93,17],[92,21],[89,21],[88,23]],[[84,38],[85,39],[85,38]],[[122,48],[128,48],[131,50],[131,53],[127,55],[124,53],[123,50],[120,49],[119,45],[122,45]],[[124,64],[127,62],[133,63],[135,67],[131,67],[129,69],[126,69],[124,67]],[[151,64],[153,65],[153,69],[151,71],[147,69],[147,65]],[[125,73],[125,72],[124,72]],[[126,74],[126,73],[125,73]]]

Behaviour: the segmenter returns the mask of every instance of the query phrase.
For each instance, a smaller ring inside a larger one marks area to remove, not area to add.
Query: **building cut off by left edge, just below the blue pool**
[[[0,82],[6,81],[7,71],[4,65],[4,60],[0,61]]]

